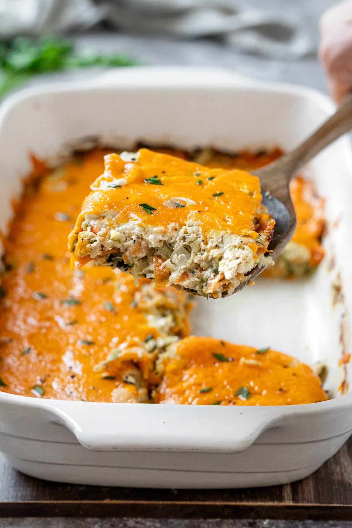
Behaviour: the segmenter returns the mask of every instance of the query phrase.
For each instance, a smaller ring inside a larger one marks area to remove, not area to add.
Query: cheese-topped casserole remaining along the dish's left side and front
[[[33,158],[33,174],[2,238],[0,391],[98,402],[326,399],[309,367],[291,357],[188,339],[192,305],[182,291],[157,288],[149,279],[136,286],[131,275],[90,260],[71,269],[68,233],[106,154],[79,153],[53,170]]]

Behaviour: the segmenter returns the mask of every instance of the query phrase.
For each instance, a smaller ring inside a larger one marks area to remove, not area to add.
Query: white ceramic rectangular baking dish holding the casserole
[[[127,149],[138,139],[187,148],[289,149],[333,110],[318,92],[217,70],[138,68],[88,86],[72,82],[20,92],[0,111],[0,229],[11,216],[21,176],[30,170],[28,152],[52,158],[68,142],[90,135]],[[350,174],[346,138],[309,167],[327,197],[328,218],[327,255],[313,277],[260,279],[229,298],[198,299],[193,313],[195,334],[270,345],[310,364],[324,361],[334,399],[289,407],[157,406],[0,392],[0,451],[24,473],[80,484],[248,487],[315,471],[352,432],[351,367],[339,366],[350,350]],[[344,288],[333,303],[337,281]]]

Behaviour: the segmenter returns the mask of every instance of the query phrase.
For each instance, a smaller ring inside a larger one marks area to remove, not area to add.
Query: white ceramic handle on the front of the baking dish
[[[50,407],[56,423],[70,429],[85,448],[99,451],[240,452],[282,415],[280,408],[269,407],[68,401]]]

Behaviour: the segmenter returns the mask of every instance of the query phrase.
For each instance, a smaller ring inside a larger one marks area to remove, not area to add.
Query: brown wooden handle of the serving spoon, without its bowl
[[[322,149],[330,145],[335,139],[339,138],[352,128],[352,93],[349,93],[335,114],[332,115],[321,127],[318,128],[297,148],[291,150],[288,154],[282,156],[278,161],[267,165],[255,174],[260,177],[263,188],[272,188],[274,174],[277,178],[290,181],[291,177],[299,171],[302,165],[318,154]]]

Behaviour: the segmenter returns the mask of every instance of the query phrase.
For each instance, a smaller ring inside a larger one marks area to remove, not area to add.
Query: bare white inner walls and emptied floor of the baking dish
[[[290,89],[238,87],[149,87],[141,97],[135,87],[78,86],[18,97],[0,130],[0,229],[11,218],[11,199],[21,191],[21,176],[30,171],[31,152],[55,163],[83,136],[126,149],[140,140],[228,152],[274,145],[288,150],[327,117],[331,109],[324,102]],[[350,375],[349,364],[340,361],[349,350],[352,291],[348,203],[352,181],[344,142],[329,147],[306,172],[327,199],[327,254],[316,274],[296,281],[258,278],[255,286],[229,298],[196,298],[191,315],[194,334],[271,346],[308,364],[326,363],[325,388],[334,396],[347,392]]]

